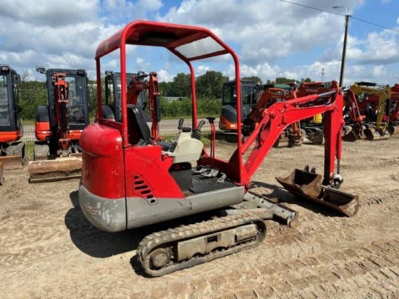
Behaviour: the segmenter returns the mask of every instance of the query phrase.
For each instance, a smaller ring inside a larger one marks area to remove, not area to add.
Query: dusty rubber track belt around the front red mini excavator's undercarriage
[[[254,243],[243,243],[234,247],[230,247],[223,251],[211,252],[203,257],[194,257],[188,261],[183,261],[178,264],[167,266],[160,270],[152,270],[145,265],[146,257],[148,256],[148,254],[151,253],[152,249],[158,247],[159,245],[172,243],[179,240],[196,238],[202,235],[235,228],[254,222],[257,223],[258,227],[260,226],[260,230],[263,232]],[[140,242],[139,246],[137,247],[137,256],[141,267],[148,275],[154,277],[163,276],[165,274],[209,262],[211,260],[221,258],[244,249],[254,248],[262,243],[265,236],[266,224],[262,219],[250,213],[233,214],[208,221],[202,221],[195,224],[171,228],[165,231],[160,231],[148,235]]]

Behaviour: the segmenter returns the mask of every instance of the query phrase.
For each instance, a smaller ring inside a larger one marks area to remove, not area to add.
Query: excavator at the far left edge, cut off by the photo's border
[[[0,184],[2,169],[22,168],[25,161],[25,143],[20,118],[17,85],[20,76],[7,64],[0,64]]]

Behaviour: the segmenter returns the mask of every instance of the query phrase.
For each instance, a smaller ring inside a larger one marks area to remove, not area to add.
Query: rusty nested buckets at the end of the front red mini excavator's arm
[[[276,177],[277,181],[290,193],[330,209],[348,217],[359,211],[359,196],[322,186],[320,174],[295,169],[287,177]]]

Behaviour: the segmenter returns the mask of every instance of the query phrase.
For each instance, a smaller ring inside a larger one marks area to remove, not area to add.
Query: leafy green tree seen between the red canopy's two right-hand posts
[[[196,80],[197,93],[199,97],[220,99],[223,89],[223,83],[228,81],[227,76],[221,72],[207,71],[198,76]]]

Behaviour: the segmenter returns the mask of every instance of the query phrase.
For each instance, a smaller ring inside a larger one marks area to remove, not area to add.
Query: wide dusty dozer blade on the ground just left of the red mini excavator
[[[29,182],[53,182],[82,176],[82,159],[59,157],[54,160],[29,162]]]

